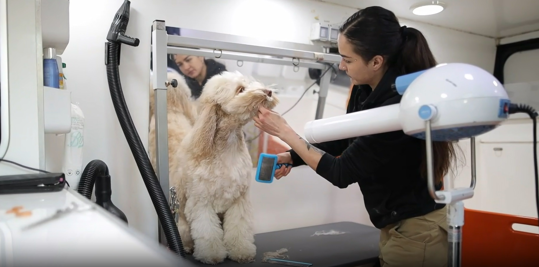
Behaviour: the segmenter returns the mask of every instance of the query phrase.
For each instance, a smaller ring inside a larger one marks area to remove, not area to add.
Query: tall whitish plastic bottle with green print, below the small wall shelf
[[[84,147],[84,114],[79,106],[71,104],[71,131],[64,141],[62,172],[71,188],[77,190],[82,175],[82,149]]]

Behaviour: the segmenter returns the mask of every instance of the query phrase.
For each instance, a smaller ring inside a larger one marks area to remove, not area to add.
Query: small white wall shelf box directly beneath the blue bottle
[[[45,133],[71,131],[71,91],[43,87]]]

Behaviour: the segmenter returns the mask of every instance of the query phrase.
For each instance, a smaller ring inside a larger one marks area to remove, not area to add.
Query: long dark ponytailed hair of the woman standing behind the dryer
[[[354,46],[355,53],[365,61],[376,55],[384,58],[386,67],[408,74],[436,66],[436,59],[423,33],[414,28],[400,26],[395,14],[380,6],[370,6],[350,16],[339,32]],[[426,177],[426,149],[420,171]],[[432,142],[434,177],[440,182],[455,163],[452,142]]]

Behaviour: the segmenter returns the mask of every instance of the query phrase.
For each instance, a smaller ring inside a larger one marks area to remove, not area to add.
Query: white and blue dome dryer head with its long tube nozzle
[[[400,103],[310,121],[309,143],[321,143],[403,130],[425,139],[426,121],[433,141],[465,139],[495,129],[509,115],[509,97],[492,74],[462,63],[440,64],[399,76]]]

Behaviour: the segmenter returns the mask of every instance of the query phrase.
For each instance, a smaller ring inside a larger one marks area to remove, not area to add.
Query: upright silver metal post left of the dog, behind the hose
[[[156,174],[161,188],[170,203],[169,169],[168,169],[168,125],[167,125],[167,44],[168,35],[164,20],[155,20],[151,29],[151,51],[153,86],[155,101],[155,152]],[[167,245],[161,222],[158,225],[159,242]]]

